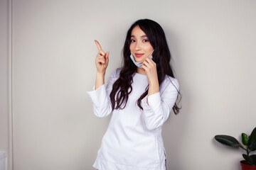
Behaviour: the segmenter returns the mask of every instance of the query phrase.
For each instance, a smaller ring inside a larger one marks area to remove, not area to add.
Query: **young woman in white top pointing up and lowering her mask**
[[[99,170],[166,170],[161,127],[170,111],[178,113],[178,81],[164,30],[155,21],[132,24],[124,42],[124,62],[110,75],[105,72],[110,52],[99,53],[95,90],[87,94],[95,115],[112,113],[110,124],[93,165]]]

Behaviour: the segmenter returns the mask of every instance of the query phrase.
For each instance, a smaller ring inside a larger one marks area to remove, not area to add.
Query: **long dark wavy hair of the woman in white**
[[[151,46],[154,48],[153,61],[156,63],[157,76],[159,80],[159,86],[164,81],[166,75],[174,77],[174,73],[171,69],[171,53],[167,45],[166,36],[164,34],[163,28],[149,19],[141,19],[132,24],[131,28],[127,31],[127,37],[124,42],[123,53],[123,66],[119,74],[119,78],[114,82],[112,86],[112,91],[110,93],[110,100],[112,103],[112,109],[123,109],[125,108],[129,94],[132,92],[132,76],[137,71],[137,66],[132,62],[130,58],[129,46],[131,43],[131,33],[132,29],[139,26],[147,38]],[[174,77],[175,78],[175,77]],[[176,88],[177,89],[177,88]],[[148,94],[149,86],[146,87],[144,94],[142,94],[137,100],[137,105],[142,108],[141,101]],[[178,91],[178,89],[177,89]],[[178,95],[181,95],[178,91]],[[116,96],[116,98],[115,98]],[[181,100],[180,100],[181,101]],[[174,103],[173,111],[175,114],[179,112],[181,108],[178,108],[177,104]]]

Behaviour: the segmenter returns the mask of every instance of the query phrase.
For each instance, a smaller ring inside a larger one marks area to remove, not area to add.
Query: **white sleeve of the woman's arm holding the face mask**
[[[178,81],[173,79],[172,83],[169,81],[163,91],[142,99],[146,128],[156,130],[164,124],[176,102],[178,89]],[[146,98],[149,104],[146,103]]]

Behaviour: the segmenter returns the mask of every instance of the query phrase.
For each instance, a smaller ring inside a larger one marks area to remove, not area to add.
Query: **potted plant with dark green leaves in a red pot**
[[[251,135],[248,137],[245,133],[242,133],[242,146],[235,137],[228,135],[215,135],[215,140],[223,145],[228,145],[230,147],[240,147],[246,151],[246,154],[242,154],[245,160],[240,162],[242,170],[256,169],[256,154],[251,154],[250,152],[256,150],[256,128],[252,130]]]

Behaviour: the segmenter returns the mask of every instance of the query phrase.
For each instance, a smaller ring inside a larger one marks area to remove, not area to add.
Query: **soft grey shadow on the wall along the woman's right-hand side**
[[[176,38],[176,35],[173,33],[170,33],[170,30],[166,31],[166,39],[171,40],[171,43],[169,43],[169,48],[171,50],[171,55],[174,57],[171,60],[172,64],[171,67],[174,68],[174,76],[178,79],[178,83],[180,86],[180,93],[181,93],[181,101],[178,103],[178,107],[182,107],[180,110],[180,113],[177,115],[174,114],[174,111],[171,111],[169,115],[169,119],[164,123],[163,126],[163,140],[164,140],[164,147],[166,149],[166,157],[167,157],[167,163],[169,169],[175,169],[175,170],[183,170],[183,154],[186,153],[182,150],[183,143],[182,141],[188,140],[187,137],[185,137],[185,132],[188,131],[187,129],[187,122],[188,122],[188,114],[191,110],[190,105],[188,105],[189,101],[191,101],[191,95],[186,89],[186,86],[183,86],[181,79],[177,77],[177,74],[182,77],[182,72],[178,72],[178,70],[182,70],[182,63],[181,63],[181,48],[178,46],[178,39]],[[172,44],[172,45],[171,45]],[[175,50],[175,51],[174,51]],[[178,67],[176,67],[176,63],[178,63]],[[180,97],[178,98],[178,100]],[[187,103],[186,106],[182,106],[182,103]]]

